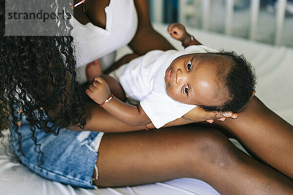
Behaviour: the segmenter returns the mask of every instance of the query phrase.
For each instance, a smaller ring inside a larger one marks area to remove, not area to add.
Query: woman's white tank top
[[[105,29],[90,22],[83,25],[71,17],[77,67],[111,54],[133,39],[138,25],[133,0],[110,0],[109,5],[105,7],[105,14]],[[114,58],[108,59],[107,63],[111,63]],[[102,65],[102,68],[106,67]]]

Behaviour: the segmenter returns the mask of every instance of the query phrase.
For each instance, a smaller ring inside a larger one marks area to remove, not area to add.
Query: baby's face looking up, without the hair
[[[223,87],[217,65],[223,59],[210,53],[188,54],[174,59],[165,73],[168,96],[186,104],[223,105],[225,100],[215,100],[219,87]]]

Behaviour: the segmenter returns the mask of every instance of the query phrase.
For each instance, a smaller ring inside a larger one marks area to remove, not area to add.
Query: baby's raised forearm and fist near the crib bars
[[[190,45],[201,45],[198,40],[186,32],[185,27],[180,23],[170,24],[168,26],[167,32],[171,35],[172,38],[180,40],[184,48]]]

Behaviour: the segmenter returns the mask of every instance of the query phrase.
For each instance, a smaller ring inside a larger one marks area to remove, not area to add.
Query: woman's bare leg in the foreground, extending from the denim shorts
[[[293,194],[293,181],[246,155],[215,130],[181,126],[105,134],[97,160],[100,187],[180,177],[199,178],[219,193]]]

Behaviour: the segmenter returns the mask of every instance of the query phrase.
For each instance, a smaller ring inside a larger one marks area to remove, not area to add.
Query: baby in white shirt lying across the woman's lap
[[[234,113],[247,105],[254,93],[255,77],[242,55],[203,46],[178,23],[171,24],[168,33],[186,49],[153,50],[109,74],[117,81],[115,87],[121,85],[126,98],[139,101],[138,106],[113,97],[105,77],[95,78],[86,94],[126,124],[153,123],[156,128],[196,106]]]

